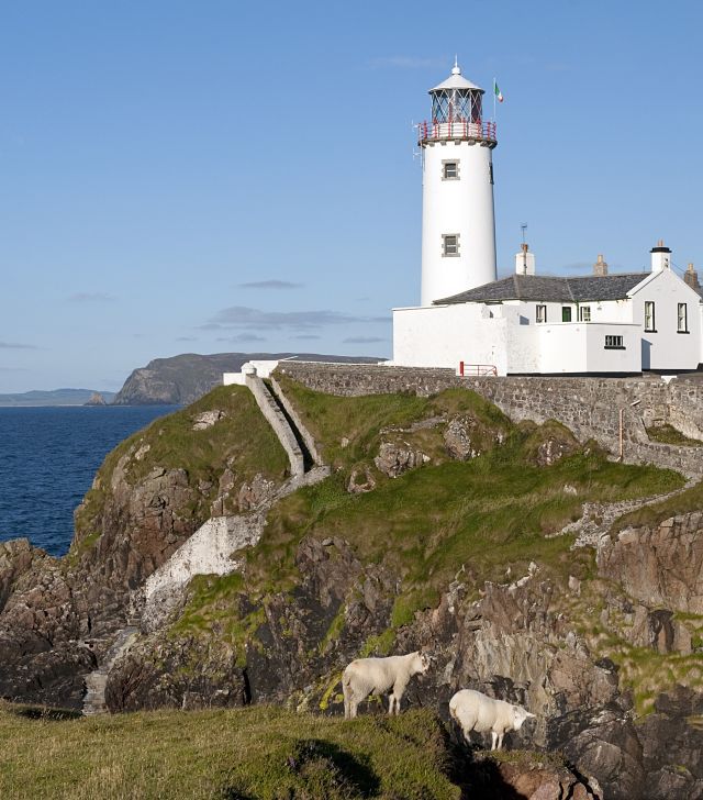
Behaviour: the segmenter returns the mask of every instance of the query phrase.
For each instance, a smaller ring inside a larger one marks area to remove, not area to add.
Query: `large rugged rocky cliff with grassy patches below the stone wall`
[[[427,647],[405,704],[446,718],[454,691],[478,688],[537,714],[510,746],[561,751],[595,793],[703,796],[699,485],[465,390],[281,386],[333,475],[275,503],[237,571],[193,579],[142,634],[110,671],[113,711],[339,713],[349,659]],[[210,514],[280,484],[284,454],[250,403],[221,388],[123,443],[66,559],[3,546],[2,695],[79,704],[146,577]]]

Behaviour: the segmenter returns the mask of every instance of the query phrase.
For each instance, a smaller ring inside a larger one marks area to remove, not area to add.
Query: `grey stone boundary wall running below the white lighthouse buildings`
[[[687,476],[703,474],[703,449],[650,442],[645,425],[669,423],[703,441],[703,382],[659,377],[486,377],[460,378],[453,369],[360,364],[286,362],[278,369],[310,389],[331,395],[403,393],[427,397],[465,387],[495,403],[515,422],[548,419],[567,425],[579,440],[594,438],[613,455],[620,449],[623,410],[624,460],[657,464]]]

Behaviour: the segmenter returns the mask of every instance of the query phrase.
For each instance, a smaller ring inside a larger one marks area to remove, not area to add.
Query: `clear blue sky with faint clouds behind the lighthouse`
[[[420,295],[412,123],[505,96],[499,273],[703,266],[693,2],[0,4],[0,391],[152,358],[390,355]],[[489,107],[492,103],[488,103]]]

